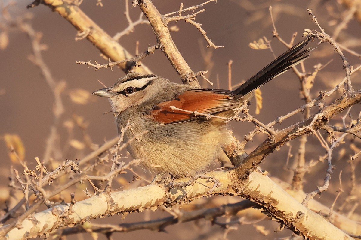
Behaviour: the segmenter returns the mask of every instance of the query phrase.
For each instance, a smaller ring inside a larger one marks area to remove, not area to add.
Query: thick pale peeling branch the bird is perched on
[[[347,234],[326,221],[322,216],[304,207],[288,195],[269,177],[259,172],[252,172],[248,178],[239,181],[235,169],[211,173],[222,186],[214,189],[214,193],[241,195],[262,205],[264,210],[274,218],[285,223],[294,232],[309,239],[330,240],[350,239]],[[187,181],[179,179],[177,181]],[[199,179],[192,186],[168,189],[161,185],[148,185],[135,189],[103,193],[92,198],[79,201],[69,212],[68,205],[58,205],[43,212],[36,213],[22,222],[22,228],[13,228],[6,239],[27,239],[42,235],[64,225],[82,223],[88,219],[112,215],[119,212],[130,212],[139,209],[156,208],[165,203],[177,203],[192,200],[207,194],[213,187],[209,180]],[[236,192],[234,191],[236,189]],[[64,213],[68,217],[62,217]]]

